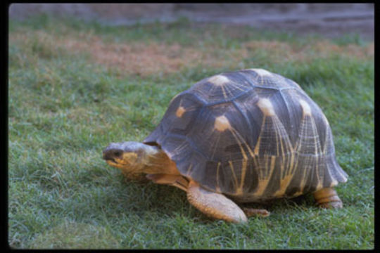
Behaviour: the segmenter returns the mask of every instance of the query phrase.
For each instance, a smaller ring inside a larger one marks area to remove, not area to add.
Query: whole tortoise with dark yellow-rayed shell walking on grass
[[[263,69],[202,79],[172,98],[142,143],[110,143],[103,159],[129,179],[175,186],[214,219],[246,222],[267,202],[313,193],[341,208],[334,186],[348,175],[335,157],[329,122],[291,79]]]

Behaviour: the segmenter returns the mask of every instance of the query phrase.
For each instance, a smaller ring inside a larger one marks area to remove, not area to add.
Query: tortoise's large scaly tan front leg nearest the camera
[[[232,200],[220,193],[205,190],[194,181],[189,182],[187,200],[203,214],[214,219],[234,223],[246,222],[247,216]]]

